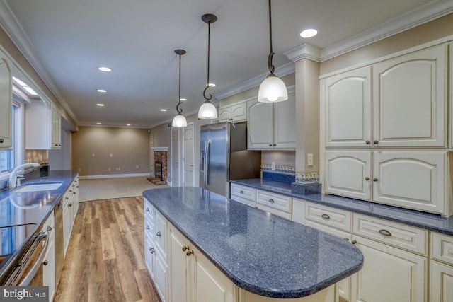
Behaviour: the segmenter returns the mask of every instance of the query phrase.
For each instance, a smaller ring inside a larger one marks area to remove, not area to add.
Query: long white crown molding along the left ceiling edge
[[[25,35],[25,31],[23,30],[22,26],[18,23],[16,16],[11,12],[8,4],[6,4],[5,0],[0,1],[0,26],[5,31],[6,35],[13,41],[14,45],[21,51],[23,57],[30,63],[30,65],[35,69],[36,73],[42,81],[44,81],[47,88],[55,95],[55,98],[61,103],[64,110],[67,111],[69,116],[79,124],[79,120],[77,120],[76,115],[72,112],[69,105],[64,100],[62,94],[59,92],[57,86],[52,81],[52,78],[47,73],[47,70],[38,59],[36,55],[36,51],[30,42],[30,39],[27,35]]]

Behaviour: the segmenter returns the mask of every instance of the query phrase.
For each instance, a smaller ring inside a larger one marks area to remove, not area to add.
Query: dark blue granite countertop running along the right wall
[[[326,194],[297,194],[291,192],[291,184],[287,182],[277,182],[273,180],[262,180],[260,178],[251,178],[244,180],[231,180],[231,183],[254,187],[260,190],[266,190],[289,197],[303,199],[316,204],[322,204],[328,207],[345,209],[355,213],[366,214],[382,219],[388,219],[400,223],[405,223],[419,228],[425,228],[438,233],[445,233],[453,236],[453,216],[442,217],[436,214],[429,214],[422,211],[413,211],[410,209],[401,209],[391,207],[385,204],[376,204],[374,202],[364,202],[357,199],[338,197]]]

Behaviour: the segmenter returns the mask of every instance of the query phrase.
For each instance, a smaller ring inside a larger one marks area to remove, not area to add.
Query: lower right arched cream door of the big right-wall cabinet
[[[374,151],[373,201],[442,214],[446,152]]]

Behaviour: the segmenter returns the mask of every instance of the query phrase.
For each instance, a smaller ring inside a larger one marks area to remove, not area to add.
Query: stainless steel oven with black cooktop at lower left
[[[1,285],[42,286],[42,265],[46,265],[43,259],[49,243],[49,236],[47,230],[45,230],[35,231],[33,236],[30,237],[28,232],[32,227],[35,228],[36,225],[1,228],[2,238],[12,238],[13,241],[10,244],[2,243],[2,265],[7,267],[5,267],[6,274],[2,278]],[[11,245],[11,249],[8,248],[9,245]],[[21,252],[17,253],[16,250]],[[11,253],[8,254],[8,252]]]

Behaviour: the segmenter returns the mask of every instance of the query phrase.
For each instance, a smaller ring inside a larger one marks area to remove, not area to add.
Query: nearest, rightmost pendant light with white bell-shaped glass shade
[[[258,102],[262,103],[276,103],[282,102],[283,100],[288,99],[288,91],[286,89],[285,83],[275,76],[274,74],[274,65],[272,64],[272,57],[274,52],[272,50],[272,18],[270,11],[270,0],[269,0],[269,41],[270,41],[270,53],[268,57],[268,69],[270,74],[266,79],[261,83],[258,90]]]

